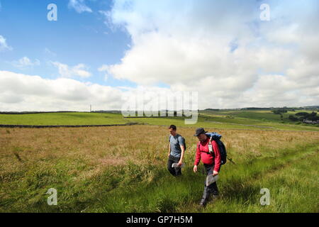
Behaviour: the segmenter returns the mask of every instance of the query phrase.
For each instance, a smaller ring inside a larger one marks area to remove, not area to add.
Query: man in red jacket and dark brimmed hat
[[[216,141],[211,140],[211,138],[208,137],[206,133],[207,132],[203,128],[197,128],[194,135],[197,136],[199,140],[196,149],[194,172],[197,172],[197,167],[201,160],[203,162],[203,166],[205,167],[206,175],[213,174],[213,176],[216,176],[218,175],[218,172],[220,170],[220,150]],[[213,152],[210,152],[209,150],[210,140]],[[205,182],[203,197],[199,205],[206,206],[208,200],[211,199],[211,196],[213,196],[213,199],[218,198],[217,183],[213,182],[212,184],[207,186]]]

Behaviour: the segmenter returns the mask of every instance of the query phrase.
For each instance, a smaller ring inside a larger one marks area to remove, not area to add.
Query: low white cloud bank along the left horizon
[[[0,71],[0,111],[86,111],[121,108],[121,89],[74,79]]]

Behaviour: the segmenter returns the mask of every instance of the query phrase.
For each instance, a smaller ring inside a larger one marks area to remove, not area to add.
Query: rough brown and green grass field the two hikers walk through
[[[167,126],[142,125],[0,128],[0,212],[318,212],[317,131],[198,124],[223,135],[235,162],[222,167],[221,196],[206,209],[197,205],[202,165],[192,172],[196,126],[178,128],[187,150],[183,176],[175,179],[166,170]],[[47,205],[50,188],[57,189],[57,206]],[[270,191],[269,206],[259,204],[262,188]]]

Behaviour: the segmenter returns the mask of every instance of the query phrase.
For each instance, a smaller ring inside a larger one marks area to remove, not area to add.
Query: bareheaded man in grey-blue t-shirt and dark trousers
[[[167,169],[174,176],[181,176],[181,164],[185,153],[185,139],[177,134],[176,126],[169,126],[169,153]],[[178,163],[179,167],[172,167],[173,163]]]

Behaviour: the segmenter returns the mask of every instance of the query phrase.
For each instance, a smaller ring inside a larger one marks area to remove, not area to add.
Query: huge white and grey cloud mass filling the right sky
[[[269,4],[271,21],[262,22],[256,1],[114,1],[106,24],[124,28],[132,45],[104,69],[143,86],[198,91],[200,108],[318,104],[309,92],[319,84],[318,2]]]

